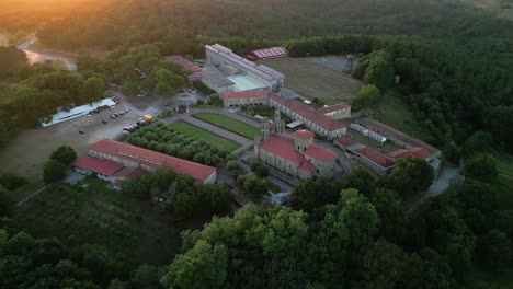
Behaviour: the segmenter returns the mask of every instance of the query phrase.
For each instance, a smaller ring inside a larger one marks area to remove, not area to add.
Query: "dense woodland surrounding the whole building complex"
[[[358,105],[398,90],[432,132],[425,141],[443,148],[446,161],[465,160],[466,182],[407,215],[404,200],[434,176],[424,161],[401,160],[379,180],[358,167],[334,182],[307,180],[287,207],[248,206],[183,232],[181,254],[160,266],[126,264],[102,244],[30,236],[9,219],[5,198],[26,181],[0,174],[1,288],[489,288],[476,270],[490,279],[511,271],[513,197],[511,182],[499,185],[497,160],[513,152],[508,20],[457,1],[420,0],[111,0],[45,20],[45,45],[112,53],[81,53],[78,71],[68,72],[27,67],[23,53],[0,48],[0,147],[57,107],[101,97],[106,83],[151,95],[183,85],[186,71],[161,55],[201,57],[210,42],[238,53],[283,44],[297,57],[356,55],[353,76],[367,84]],[[59,159],[45,167],[49,183],[64,176]],[[170,172],[126,183],[123,193],[148,199],[170,186],[179,197],[167,208],[184,218],[226,209],[225,187]]]

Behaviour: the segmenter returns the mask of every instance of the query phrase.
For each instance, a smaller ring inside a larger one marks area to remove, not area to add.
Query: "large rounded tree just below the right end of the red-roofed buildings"
[[[392,172],[384,178],[384,184],[402,197],[409,197],[428,189],[433,177],[433,167],[426,161],[404,158],[396,162]]]

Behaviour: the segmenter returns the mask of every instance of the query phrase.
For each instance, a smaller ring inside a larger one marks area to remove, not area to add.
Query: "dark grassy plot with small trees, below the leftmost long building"
[[[180,221],[171,212],[107,188],[93,176],[76,186],[56,184],[14,211],[20,229],[64,243],[103,244],[128,262],[169,264],[180,232],[200,229],[209,216]],[[75,240],[75,241],[73,241]]]

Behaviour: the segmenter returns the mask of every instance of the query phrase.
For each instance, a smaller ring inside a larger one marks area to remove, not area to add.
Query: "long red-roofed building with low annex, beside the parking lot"
[[[100,178],[116,183],[155,172],[159,167],[171,167],[175,173],[190,175],[203,183],[215,183],[216,169],[201,163],[174,158],[160,152],[138,148],[114,140],[99,140],[88,147],[87,155],[73,163],[75,171],[96,173]]]

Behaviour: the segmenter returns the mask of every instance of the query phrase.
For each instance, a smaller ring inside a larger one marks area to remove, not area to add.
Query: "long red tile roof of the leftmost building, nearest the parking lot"
[[[160,152],[141,149],[114,140],[99,140],[90,144],[89,149],[103,152],[105,154],[115,155],[132,162],[140,161],[141,164],[156,169],[160,166],[168,166],[173,169],[178,174],[190,175],[202,182],[216,171],[215,167],[208,165],[182,160]]]

